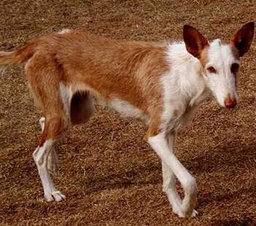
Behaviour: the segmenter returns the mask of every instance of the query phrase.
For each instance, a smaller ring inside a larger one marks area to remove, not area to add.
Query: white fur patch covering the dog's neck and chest
[[[162,129],[174,129],[192,118],[197,105],[208,97],[200,61],[187,53],[184,42],[169,45],[170,72],[163,75]]]

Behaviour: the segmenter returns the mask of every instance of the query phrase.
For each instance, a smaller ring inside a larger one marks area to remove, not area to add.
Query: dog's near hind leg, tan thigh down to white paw
[[[54,143],[67,131],[70,124],[72,92],[67,83],[61,80],[65,78],[64,69],[56,56],[46,56],[44,50],[27,62],[25,73],[31,91],[45,116],[40,121],[43,131],[39,146],[33,153],[45,200],[64,200],[65,196],[54,186],[49,171],[55,165],[51,163],[57,159],[55,151],[52,151]]]

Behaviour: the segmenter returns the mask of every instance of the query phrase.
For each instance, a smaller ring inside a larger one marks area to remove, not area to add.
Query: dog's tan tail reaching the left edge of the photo
[[[23,64],[28,61],[37,50],[37,42],[29,42],[18,50],[12,52],[0,51],[0,71],[8,67]]]

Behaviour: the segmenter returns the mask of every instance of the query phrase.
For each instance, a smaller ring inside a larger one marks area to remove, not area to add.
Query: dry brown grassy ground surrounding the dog
[[[158,40],[180,39],[189,23],[210,38],[227,38],[253,18],[255,0],[1,0],[0,48],[81,26],[108,37]],[[146,127],[101,109],[59,143],[55,181],[67,201],[45,203],[31,158],[39,113],[23,70],[8,70],[0,77],[0,225],[256,225],[255,54],[253,42],[238,107],[206,102],[179,134],[178,157],[199,189],[200,216],[189,220],[171,212],[159,159],[143,140]]]

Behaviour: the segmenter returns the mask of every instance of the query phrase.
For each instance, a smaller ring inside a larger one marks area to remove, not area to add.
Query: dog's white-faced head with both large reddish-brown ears
[[[236,106],[236,75],[240,67],[240,57],[249,50],[254,29],[253,22],[246,23],[230,42],[225,43],[220,39],[208,42],[197,29],[184,26],[183,36],[187,51],[200,60],[206,84],[222,107]]]

